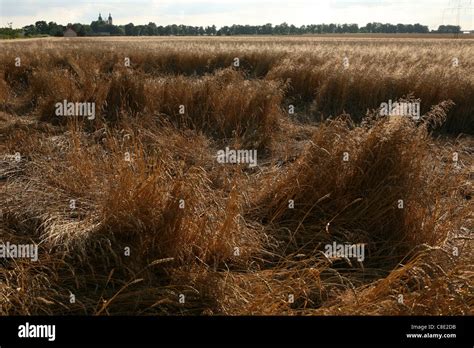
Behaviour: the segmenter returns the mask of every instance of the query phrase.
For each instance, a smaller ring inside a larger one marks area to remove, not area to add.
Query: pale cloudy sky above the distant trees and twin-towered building
[[[474,1],[460,0],[465,7]],[[0,0],[0,27],[38,20],[90,23],[112,13],[115,24],[422,23],[435,29],[456,24],[459,0]],[[473,10],[461,12],[464,29],[474,29]]]

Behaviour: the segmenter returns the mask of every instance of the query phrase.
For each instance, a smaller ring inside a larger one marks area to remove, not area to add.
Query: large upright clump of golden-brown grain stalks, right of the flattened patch
[[[446,113],[447,105],[439,108]],[[435,164],[427,132],[432,118],[419,127],[406,119],[355,129],[344,118],[321,125],[285,176],[268,181],[253,213],[284,234],[292,231],[285,252],[315,253],[334,239],[364,243],[366,265],[373,258],[393,267],[413,246],[440,243],[453,228],[440,224],[443,215],[459,209],[440,197],[460,182],[449,177],[452,168]]]

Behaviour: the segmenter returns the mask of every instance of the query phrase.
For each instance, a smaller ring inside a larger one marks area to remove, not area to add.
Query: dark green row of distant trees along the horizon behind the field
[[[383,24],[368,23],[364,27],[357,24],[310,24],[296,27],[287,23],[278,25],[232,25],[217,29],[215,25],[207,27],[187,25],[111,25],[104,21],[94,21],[90,25],[70,23],[67,26],[55,22],[38,21],[34,25],[25,26],[23,29],[1,28],[0,36],[63,36],[67,28],[72,28],[78,36],[113,35],[113,36],[231,36],[231,35],[305,35],[305,34],[349,34],[349,33],[429,33],[428,26],[421,24]],[[461,32],[460,26],[441,25],[432,33],[456,34]]]

